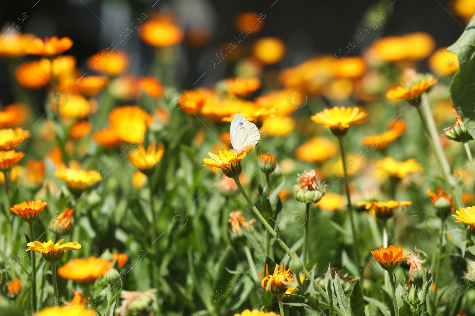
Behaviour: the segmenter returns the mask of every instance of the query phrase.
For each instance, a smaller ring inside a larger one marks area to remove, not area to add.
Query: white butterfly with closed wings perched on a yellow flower
[[[233,150],[238,153],[242,153],[247,147],[257,144],[261,139],[257,126],[239,113],[236,113],[231,120],[229,134]]]

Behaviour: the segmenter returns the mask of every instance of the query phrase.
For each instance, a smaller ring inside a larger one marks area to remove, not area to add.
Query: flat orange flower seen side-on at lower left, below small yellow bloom
[[[78,283],[90,284],[113,267],[113,263],[102,258],[89,257],[69,260],[57,273],[63,279],[75,280]]]

